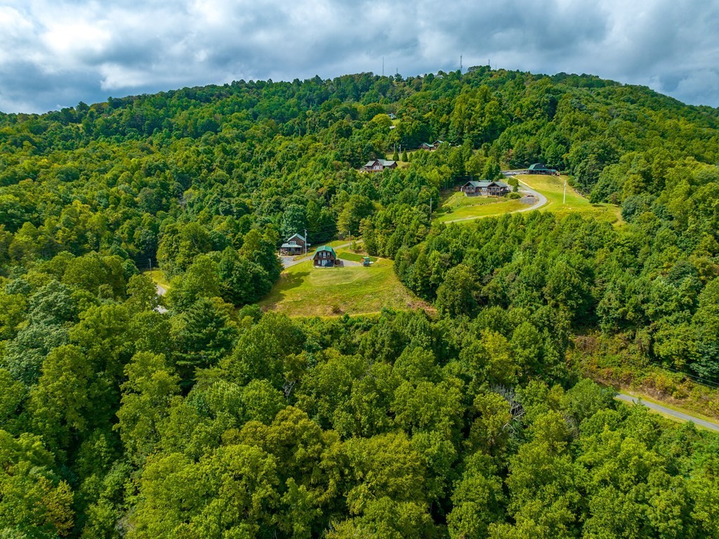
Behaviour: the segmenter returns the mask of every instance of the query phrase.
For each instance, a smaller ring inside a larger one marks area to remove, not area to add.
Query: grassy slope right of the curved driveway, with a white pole
[[[620,208],[614,204],[592,204],[584,196],[574,191],[567,184],[567,202],[564,203],[564,181],[567,176],[546,176],[544,174],[519,174],[514,176],[522,184],[546,196],[548,203],[540,208],[543,212],[553,212],[563,216],[569,213],[590,213],[597,219],[610,223],[620,223],[622,218]]]

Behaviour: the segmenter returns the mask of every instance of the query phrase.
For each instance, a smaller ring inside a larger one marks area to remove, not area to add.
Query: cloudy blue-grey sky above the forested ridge
[[[719,107],[719,0],[0,0],[0,111],[240,79],[591,73]]]

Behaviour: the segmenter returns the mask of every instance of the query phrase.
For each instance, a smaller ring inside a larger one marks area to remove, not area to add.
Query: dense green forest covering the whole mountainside
[[[432,224],[535,162],[623,222]],[[719,439],[567,361],[719,382],[718,162],[717,109],[487,67],[0,114],[0,537],[718,537]],[[262,313],[303,230],[436,313]]]

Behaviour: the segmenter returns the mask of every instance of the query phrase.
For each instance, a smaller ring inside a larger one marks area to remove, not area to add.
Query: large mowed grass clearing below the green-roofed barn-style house
[[[380,259],[369,268],[314,268],[312,261],[291,266],[260,307],[306,317],[428,306],[400,283],[392,261]]]

